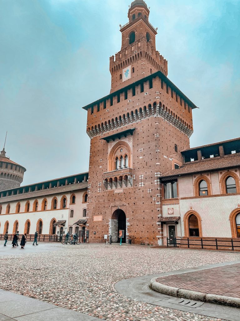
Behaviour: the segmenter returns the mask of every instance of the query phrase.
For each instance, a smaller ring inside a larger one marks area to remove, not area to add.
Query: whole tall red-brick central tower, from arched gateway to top
[[[118,230],[135,243],[162,244],[160,173],[181,164],[196,106],[167,78],[156,51],[156,29],[142,0],[132,2],[121,27],[122,47],[110,57],[108,96],[84,107],[91,138],[87,217],[89,238]],[[124,237],[124,240],[126,237]]]

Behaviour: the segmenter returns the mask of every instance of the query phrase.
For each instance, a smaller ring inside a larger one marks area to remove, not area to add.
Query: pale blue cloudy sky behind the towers
[[[190,146],[240,136],[240,0],[147,0],[168,78],[199,109]],[[88,171],[83,106],[110,92],[130,1],[0,0],[0,149],[22,185]]]

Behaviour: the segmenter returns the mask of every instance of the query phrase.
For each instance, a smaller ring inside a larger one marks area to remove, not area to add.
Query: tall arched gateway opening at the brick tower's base
[[[123,210],[117,209],[112,214],[111,219],[111,235],[112,242],[120,242],[118,238],[118,231],[124,230],[124,238],[122,239],[122,243],[126,242],[126,214]]]

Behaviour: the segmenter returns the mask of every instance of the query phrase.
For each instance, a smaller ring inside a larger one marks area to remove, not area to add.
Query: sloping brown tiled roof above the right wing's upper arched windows
[[[161,178],[178,177],[193,173],[201,173],[210,170],[235,168],[240,166],[240,153],[213,157],[202,161],[193,161],[183,164],[179,169],[173,169],[161,175]]]

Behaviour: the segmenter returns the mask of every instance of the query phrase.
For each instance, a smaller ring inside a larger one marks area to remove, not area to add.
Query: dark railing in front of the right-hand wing
[[[188,248],[202,248],[202,249],[216,249],[216,250],[223,250],[223,249],[230,249],[232,251],[234,250],[240,250],[240,239],[217,239],[217,238],[198,238],[198,239],[192,239],[192,238],[181,238],[181,239],[169,239],[167,238],[167,247],[173,246],[173,247],[188,247]]]

